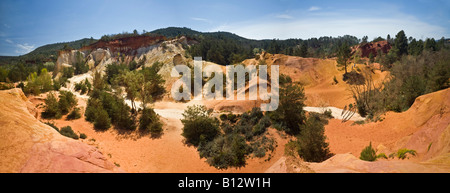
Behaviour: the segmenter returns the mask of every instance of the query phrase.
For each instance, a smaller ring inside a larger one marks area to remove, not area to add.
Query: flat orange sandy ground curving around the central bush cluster
[[[30,101],[36,106],[43,103],[45,95],[30,97]],[[78,107],[84,112],[87,100],[78,98]],[[192,103],[198,103],[193,101]],[[151,138],[149,135],[141,135],[139,132],[119,132],[113,128],[99,132],[93,129],[93,125],[84,120],[84,115],[77,120],[67,121],[65,116],[59,120],[50,120],[59,128],[71,126],[77,133],[84,133],[87,139],[80,139],[84,143],[97,147],[112,163],[120,166],[127,172],[264,172],[284,154],[286,137],[270,129],[268,135],[277,141],[276,150],[272,158],[265,161],[264,158],[249,158],[247,166],[240,169],[218,170],[209,166],[201,159],[197,149],[184,144],[182,133],[181,113],[191,103],[157,102],[152,106],[162,117],[164,134],[160,138]],[[38,109],[40,112],[42,109]],[[42,120],[44,122],[48,120]]]

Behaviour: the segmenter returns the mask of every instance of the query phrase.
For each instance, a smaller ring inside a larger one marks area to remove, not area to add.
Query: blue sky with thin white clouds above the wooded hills
[[[164,27],[251,39],[354,35],[450,37],[450,1],[1,0],[0,55],[104,34]]]

